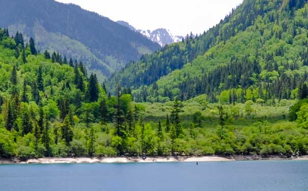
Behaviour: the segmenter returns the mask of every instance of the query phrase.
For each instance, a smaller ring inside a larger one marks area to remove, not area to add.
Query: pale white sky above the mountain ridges
[[[170,29],[175,35],[203,33],[243,0],[56,0],[73,3],[136,29]]]

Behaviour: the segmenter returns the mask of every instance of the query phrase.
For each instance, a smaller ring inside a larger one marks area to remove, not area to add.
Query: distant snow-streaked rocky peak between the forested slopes
[[[175,42],[179,42],[182,40],[182,36],[174,36],[170,30],[166,29],[156,29],[154,31],[150,30],[136,30],[132,25],[130,25],[126,21],[117,21],[119,24],[126,26],[132,31],[139,32],[146,36],[151,41],[158,43],[161,47],[165,46],[166,44],[172,44]]]

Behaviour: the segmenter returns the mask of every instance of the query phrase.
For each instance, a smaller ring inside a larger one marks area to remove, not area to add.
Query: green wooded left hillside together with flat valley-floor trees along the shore
[[[135,103],[129,89],[107,96],[81,62],[39,53],[7,29],[0,72],[0,157],[308,154],[306,99]]]

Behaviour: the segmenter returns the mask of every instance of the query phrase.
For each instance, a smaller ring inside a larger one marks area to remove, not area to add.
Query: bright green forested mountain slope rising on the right
[[[308,71],[306,2],[245,0],[203,35],[131,62],[109,85],[132,89],[136,101],[296,98]]]

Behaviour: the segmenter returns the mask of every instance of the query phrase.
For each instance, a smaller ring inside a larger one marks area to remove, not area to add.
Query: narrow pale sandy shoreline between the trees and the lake
[[[261,157],[257,155],[236,156],[157,156],[147,157],[45,157],[37,159],[4,159],[0,165],[12,164],[57,164],[57,163],[151,163],[151,162],[214,162],[214,161],[244,161],[244,160],[308,160],[308,155],[299,157]]]

